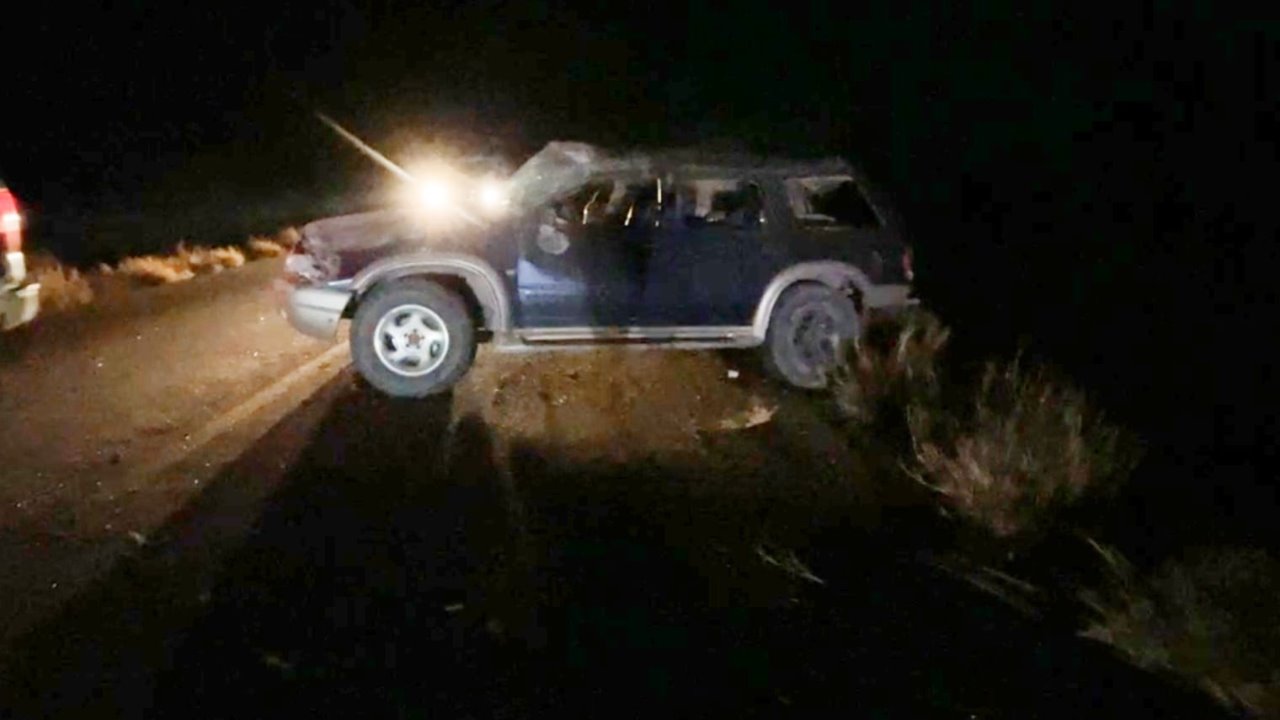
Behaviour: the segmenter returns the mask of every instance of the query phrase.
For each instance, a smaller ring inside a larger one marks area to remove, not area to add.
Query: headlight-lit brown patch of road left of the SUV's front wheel
[[[180,454],[212,419],[325,350],[280,318],[278,273],[279,261],[264,260],[120,288],[0,337],[0,635],[146,533],[124,510],[140,468]],[[173,500],[148,515],[180,507]]]

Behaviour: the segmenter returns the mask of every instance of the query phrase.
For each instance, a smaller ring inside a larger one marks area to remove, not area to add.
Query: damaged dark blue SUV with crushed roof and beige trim
[[[899,223],[841,160],[553,142],[509,178],[428,179],[420,204],[307,224],[284,311],[394,396],[499,350],[754,347],[820,388],[868,314],[913,302]]]

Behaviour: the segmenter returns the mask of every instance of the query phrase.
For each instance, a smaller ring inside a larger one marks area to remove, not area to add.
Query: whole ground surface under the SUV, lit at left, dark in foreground
[[[393,401],[274,272],[0,357],[12,716],[1215,712],[933,569],[910,495],[745,356],[481,352]]]

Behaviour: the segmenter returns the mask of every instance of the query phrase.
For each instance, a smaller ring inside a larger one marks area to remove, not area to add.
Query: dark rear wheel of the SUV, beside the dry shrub
[[[764,366],[795,387],[822,389],[841,346],[856,340],[861,329],[858,307],[847,296],[818,283],[792,286],[769,315]]]

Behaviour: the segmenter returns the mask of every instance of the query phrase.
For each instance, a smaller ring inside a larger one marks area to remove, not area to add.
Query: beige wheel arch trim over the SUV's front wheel
[[[453,252],[419,252],[387,258],[369,265],[351,281],[358,305],[360,297],[379,283],[412,277],[452,279],[452,290],[466,291],[463,300],[484,329],[511,329],[511,297],[502,275],[488,261],[474,255]],[[477,313],[476,313],[477,311]]]

